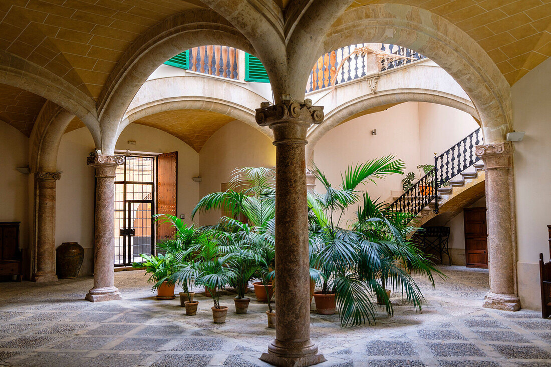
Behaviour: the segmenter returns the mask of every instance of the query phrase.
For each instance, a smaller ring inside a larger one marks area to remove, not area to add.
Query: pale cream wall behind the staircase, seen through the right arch
[[[405,102],[333,128],[316,144],[314,161],[336,186],[341,182],[341,172],[350,164],[386,155],[402,159],[406,172],[415,172],[418,179],[417,165],[434,164],[435,152],[444,152],[477,127],[471,115],[452,107]],[[371,135],[373,129],[377,130],[375,136]],[[366,187],[372,199],[384,201],[391,191],[402,190],[402,179],[402,175],[391,175]],[[316,190],[322,191],[319,185]]]

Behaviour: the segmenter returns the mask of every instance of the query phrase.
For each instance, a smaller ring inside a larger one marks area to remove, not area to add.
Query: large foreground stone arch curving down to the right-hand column
[[[402,4],[353,8],[333,24],[320,54],[360,42],[408,47],[439,64],[473,101],[487,143],[503,142],[511,131],[505,77],[476,41],[439,15]]]

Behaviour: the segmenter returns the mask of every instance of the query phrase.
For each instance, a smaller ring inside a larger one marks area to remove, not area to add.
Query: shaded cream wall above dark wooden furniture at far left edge
[[[29,205],[31,176],[16,170],[29,164],[29,138],[18,129],[0,121],[0,222],[21,222],[19,247],[24,249],[24,268],[28,269],[29,232],[33,213]],[[31,190],[32,191],[32,190]],[[32,196],[30,196],[32,198]],[[26,272],[25,272],[26,273]]]

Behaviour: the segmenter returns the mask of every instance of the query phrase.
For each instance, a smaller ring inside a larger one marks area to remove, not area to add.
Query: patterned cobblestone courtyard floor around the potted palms
[[[339,328],[339,316],[315,313],[311,335],[327,362],[320,366],[551,366],[551,321],[534,311],[480,307],[488,272],[443,267],[435,288],[419,280],[426,306],[419,313],[398,295],[393,317],[375,326]],[[266,304],[214,324],[212,301],[197,295],[196,316],[178,296],[153,297],[142,271],[117,272],[124,300],[84,301],[91,278],[51,284],[0,283],[0,365],[9,366],[267,366],[258,360],[274,338]],[[199,292],[199,290],[197,290]],[[253,295],[251,295],[252,298]]]

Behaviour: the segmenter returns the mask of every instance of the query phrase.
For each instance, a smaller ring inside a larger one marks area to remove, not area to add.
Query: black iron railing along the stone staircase
[[[388,210],[417,215],[434,200],[434,211],[438,213],[438,188],[480,160],[474,154],[474,148],[480,144],[483,144],[483,139],[482,129],[479,128],[446,152],[435,156],[434,168],[391,203]]]

